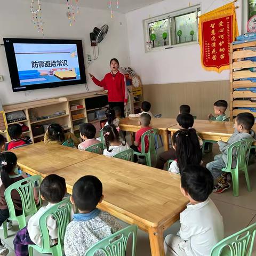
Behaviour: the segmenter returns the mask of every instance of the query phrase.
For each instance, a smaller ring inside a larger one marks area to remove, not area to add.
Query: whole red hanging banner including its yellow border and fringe
[[[229,69],[230,44],[238,35],[234,3],[199,17],[199,44],[204,69],[221,72]]]

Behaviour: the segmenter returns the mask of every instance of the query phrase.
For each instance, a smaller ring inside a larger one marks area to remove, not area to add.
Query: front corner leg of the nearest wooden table
[[[151,256],[164,256],[164,236],[161,227],[148,229]]]

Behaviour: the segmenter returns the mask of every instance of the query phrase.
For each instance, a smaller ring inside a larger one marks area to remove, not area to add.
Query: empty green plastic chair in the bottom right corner
[[[211,256],[251,256],[256,233],[256,223],[215,244]]]

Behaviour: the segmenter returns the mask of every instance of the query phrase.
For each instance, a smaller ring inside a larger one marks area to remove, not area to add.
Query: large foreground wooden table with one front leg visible
[[[52,171],[66,179],[68,193],[84,175],[95,175],[103,184],[98,207],[149,234],[151,255],[163,256],[163,231],[179,219],[188,203],[180,193],[180,175],[98,155]]]

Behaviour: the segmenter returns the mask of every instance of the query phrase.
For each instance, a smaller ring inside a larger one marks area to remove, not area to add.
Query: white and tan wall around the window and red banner
[[[175,2],[175,4],[174,4]],[[226,4],[223,0],[201,1],[205,13]],[[144,99],[153,105],[153,113],[175,117],[178,105],[189,103],[193,114],[206,119],[215,100],[229,102],[229,70],[205,71],[201,66],[199,44],[162,51],[145,52],[143,20],[199,4],[198,0],[164,0],[126,14],[131,67],[140,75]],[[242,26],[242,0],[236,3],[238,29]]]

